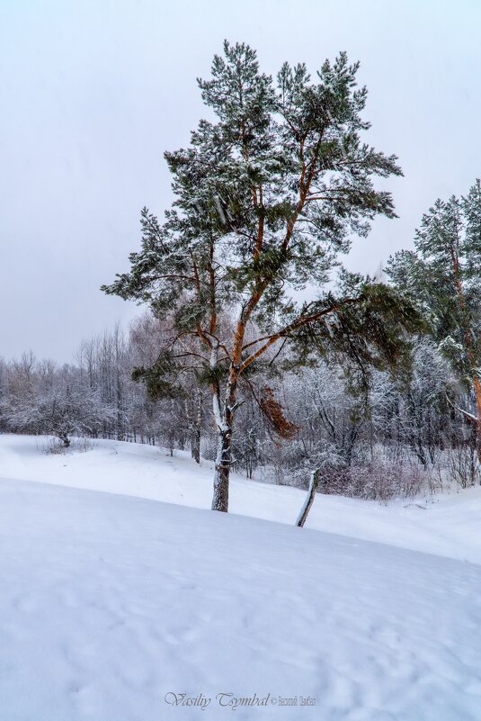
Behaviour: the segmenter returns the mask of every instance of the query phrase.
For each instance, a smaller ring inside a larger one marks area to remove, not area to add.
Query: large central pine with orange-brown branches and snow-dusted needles
[[[396,362],[400,336],[417,318],[394,291],[359,275],[342,273],[335,291],[329,285],[352,234],[365,236],[379,214],[395,217],[391,195],[372,178],[401,175],[395,156],[361,141],[370,124],[358,68],[341,53],[315,80],[305,65],[285,63],[274,83],[254,50],[226,42],[212,78],[199,80],[215,121],[200,121],[189,148],[165,153],[173,207],[164,224],[143,210],[130,272],[102,286],[147,302],[159,318],[174,309],[172,341],[144,380],[171,392],[195,368],[209,384],[218,433],[213,509],[228,508],[242,385],[253,388],[263,366],[281,369],[286,343],[296,363],[335,349],[365,371]],[[307,284],[315,299],[295,302],[292,291]],[[272,390],[255,393],[289,437]]]

